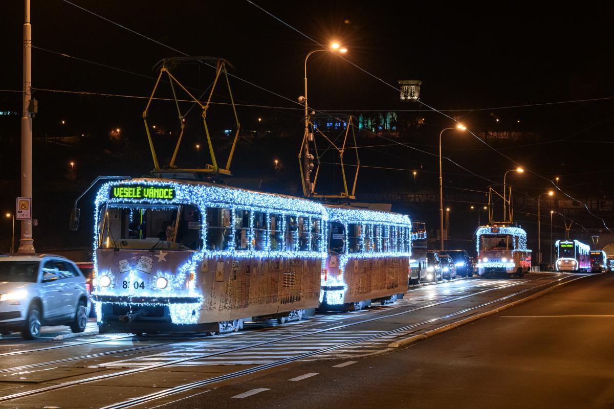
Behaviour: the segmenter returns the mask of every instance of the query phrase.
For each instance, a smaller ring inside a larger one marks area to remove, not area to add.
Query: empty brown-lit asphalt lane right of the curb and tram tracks
[[[614,274],[405,348],[294,364],[196,393],[163,407],[611,409]]]

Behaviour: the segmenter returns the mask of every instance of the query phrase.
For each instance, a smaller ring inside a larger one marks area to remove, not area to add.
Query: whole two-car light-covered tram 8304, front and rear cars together
[[[238,331],[406,291],[407,216],[160,178],[106,183],[95,209],[99,332]]]

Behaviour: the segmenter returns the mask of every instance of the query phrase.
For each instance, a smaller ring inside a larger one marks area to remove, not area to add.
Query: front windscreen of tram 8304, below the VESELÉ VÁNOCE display
[[[99,214],[99,248],[200,250],[201,213],[192,205],[109,204]]]

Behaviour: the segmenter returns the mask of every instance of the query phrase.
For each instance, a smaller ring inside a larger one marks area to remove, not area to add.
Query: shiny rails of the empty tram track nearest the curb
[[[571,277],[571,276],[569,276],[569,277]],[[360,324],[370,323],[372,321],[377,321],[377,320],[380,320],[380,319],[387,319],[387,318],[392,318],[392,317],[395,317],[395,316],[401,316],[401,315],[410,314],[410,313],[413,313],[413,312],[417,312],[419,310],[424,310],[426,308],[432,308],[432,307],[436,307],[438,305],[448,304],[450,302],[454,302],[454,301],[457,301],[457,300],[467,299],[469,297],[475,297],[475,296],[478,296],[480,294],[485,294],[486,292],[491,292],[491,291],[496,291],[496,290],[499,290],[499,289],[505,289],[505,288],[508,288],[508,287],[511,287],[511,286],[516,286],[516,285],[519,285],[521,283],[524,283],[524,281],[515,281],[515,282],[507,284],[507,285],[495,286],[494,288],[484,289],[483,291],[475,292],[473,294],[467,294],[467,295],[464,295],[464,296],[451,297],[449,299],[445,299],[445,300],[441,300],[441,301],[437,301],[437,302],[432,302],[430,304],[422,305],[422,306],[416,307],[416,308],[411,308],[410,310],[405,310],[403,312],[387,314],[387,315],[378,315],[378,316],[375,316],[375,317],[372,317],[372,318],[362,319],[362,320],[355,321],[355,322],[352,322],[352,323],[343,324],[343,325],[339,325],[339,326],[335,326],[335,327],[329,327],[329,328],[326,328],[326,329],[319,329],[319,330],[311,331],[311,332],[308,332],[308,333],[305,333],[305,334],[296,334],[296,335],[290,335],[288,337],[276,338],[274,340],[265,340],[265,341],[262,341],[262,342],[249,343],[248,345],[238,346],[236,348],[227,348],[225,350],[219,350],[219,351],[214,351],[214,352],[210,352],[210,353],[198,354],[196,356],[183,357],[181,359],[174,359],[173,361],[160,362],[158,364],[147,365],[146,367],[140,367],[140,368],[130,369],[130,370],[123,370],[123,371],[114,372],[114,373],[106,373],[104,375],[96,375],[94,377],[83,378],[83,379],[80,379],[80,380],[73,380],[73,381],[68,381],[68,382],[64,382],[64,383],[52,384],[50,386],[45,386],[44,388],[33,389],[31,391],[25,391],[25,392],[17,392],[15,394],[10,394],[10,395],[4,396],[4,397],[0,397],[0,402],[6,402],[7,400],[18,399],[18,398],[21,398],[21,397],[33,396],[33,395],[41,394],[41,393],[44,393],[44,392],[51,392],[51,391],[55,391],[55,390],[58,390],[58,389],[63,389],[63,388],[68,388],[70,386],[75,386],[75,385],[78,385],[78,384],[91,383],[91,382],[95,382],[95,381],[107,380],[107,379],[110,379],[110,378],[122,377],[122,376],[125,376],[125,375],[132,375],[134,373],[146,372],[148,370],[158,369],[158,368],[161,368],[161,367],[168,367],[168,366],[171,366],[171,365],[177,365],[177,364],[181,364],[183,362],[196,361],[198,359],[204,359],[206,357],[220,356],[220,355],[223,355],[223,354],[230,354],[230,353],[234,353],[236,351],[243,351],[243,350],[248,350],[250,348],[257,348],[258,346],[265,346],[265,345],[270,345],[270,344],[273,344],[273,343],[279,343],[279,342],[284,342],[284,341],[287,341],[287,340],[293,340],[293,339],[296,339],[296,338],[308,337],[308,336],[313,336],[313,335],[317,335],[317,334],[323,334],[325,332],[330,332],[330,331],[335,331],[335,330],[338,330],[338,329],[344,329],[346,327],[351,327],[351,326],[357,326],[357,325],[360,325]],[[546,285],[550,285],[550,283],[546,283],[546,284],[544,284],[542,286],[546,286]],[[542,287],[542,286],[538,286],[538,287]],[[495,299],[495,300],[491,300],[488,303],[483,304],[483,305],[479,305],[479,306],[476,306],[476,307],[471,307],[471,308],[468,308],[468,309],[464,309],[464,310],[461,310],[460,312],[453,313],[451,315],[448,314],[448,315],[445,315],[445,316],[438,317],[437,319],[435,319],[435,321],[437,321],[439,319],[451,318],[452,316],[456,316],[458,314],[468,312],[468,311],[470,311],[472,309],[481,308],[481,307],[484,307],[484,305],[491,305],[491,304],[493,304],[495,302],[500,302],[502,300],[509,299],[510,297],[514,297],[514,296],[517,296],[519,294],[523,294],[524,292],[532,291],[534,289],[536,289],[536,288],[532,287],[532,288],[524,289],[522,291],[515,292],[513,294],[509,294],[508,296],[500,297],[499,299]],[[432,323],[432,322],[433,322],[433,319],[429,319],[429,320],[423,321],[421,323],[411,324],[411,326],[403,326],[403,327],[394,329],[392,331],[388,331],[388,332],[384,332],[384,333],[380,333],[380,334],[376,334],[376,335],[370,335],[370,336],[367,336],[367,337],[359,338],[357,340],[352,340],[351,342],[340,343],[338,345],[333,345],[333,346],[329,346],[327,348],[322,348],[321,350],[311,351],[309,353],[300,354],[299,356],[294,356],[294,357],[289,357],[287,359],[282,359],[281,361],[276,361],[276,362],[273,362],[272,364],[260,365],[260,366],[255,367],[255,368],[259,368],[258,370],[263,370],[263,369],[267,369],[268,367],[271,367],[271,365],[273,365],[273,364],[274,365],[282,365],[282,364],[287,363],[287,362],[298,361],[300,359],[304,359],[305,357],[314,356],[316,354],[321,354],[321,353],[324,353],[326,351],[335,350],[335,349],[338,349],[338,348],[343,348],[344,346],[354,345],[356,343],[364,342],[364,341],[367,341],[367,340],[371,340],[373,338],[383,337],[386,334],[395,334],[397,332],[407,331],[408,329],[411,329],[411,328],[413,328],[415,326],[424,325],[426,323]],[[223,377],[239,377],[239,376],[241,376],[241,375],[243,375],[245,373],[251,373],[251,372],[239,371],[239,372],[236,372],[236,373],[223,375]],[[221,377],[219,377],[219,378],[221,378]],[[217,380],[217,381],[219,381],[219,380]],[[204,380],[204,381],[199,381],[199,382],[209,382],[209,380]],[[209,383],[212,383],[212,382],[213,381],[211,381]],[[189,385],[191,385],[190,388],[196,388],[197,387],[197,386],[194,386],[195,384],[189,384]],[[177,388],[181,388],[181,387],[184,387],[184,386],[178,386]],[[188,388],[188,389],[190,389],[190,388]],[[171,388],[169,390],[173,390],[174,391],[175,389]],[[179,393],[179,392],[181,392],[181,391],[179,389],[177,389],[173,393]],[[157,397],[152,397],[151,400],[153,400],[153,399],[158,399],[158,398]],[[132,400],[131,400],[131,402],[132,402]]]

